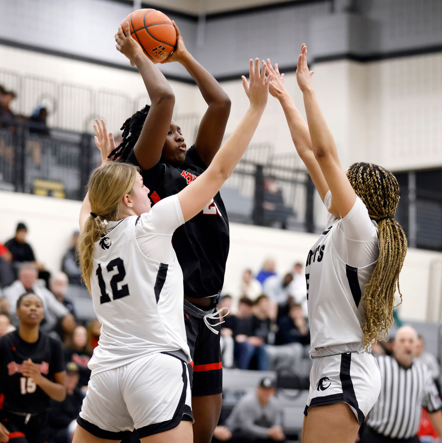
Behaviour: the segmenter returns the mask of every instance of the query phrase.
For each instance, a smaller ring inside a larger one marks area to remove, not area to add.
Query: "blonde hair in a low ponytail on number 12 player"
[[[123,197],[130,194],[137,176],[137,167],[129,163],[109,162],[92,173],[87,185],[90,215],[80,236],[78,251],[82,279],[90,290],[90,277],[94,266],[95,243],[106,232],[105,220],[119,220]]]

